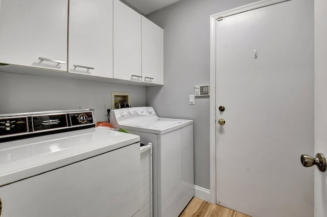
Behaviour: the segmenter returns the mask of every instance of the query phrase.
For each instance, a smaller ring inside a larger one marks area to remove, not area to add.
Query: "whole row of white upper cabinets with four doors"
[[[0,0],[0,63],[12,72],[163,85],[163,45],[164,30],[119,0]]]

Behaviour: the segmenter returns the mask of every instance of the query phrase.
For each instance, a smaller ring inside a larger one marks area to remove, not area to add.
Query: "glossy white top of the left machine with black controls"
[[[0,186],[139,142],[138,135],[89,128],[0,144]]]

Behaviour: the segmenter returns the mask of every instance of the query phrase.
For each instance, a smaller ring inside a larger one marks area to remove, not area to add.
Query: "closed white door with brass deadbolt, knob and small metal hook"
[[[216,22],[218,204],[251,216],[313,216],[313,170],[300,164],[313,152],[313,42],[312,1]]]

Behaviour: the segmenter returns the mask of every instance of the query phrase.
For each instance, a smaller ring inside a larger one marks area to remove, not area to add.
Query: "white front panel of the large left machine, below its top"
[[[2,186],[2,215],[132,216],[139,210],[139,163],[136,143]]]

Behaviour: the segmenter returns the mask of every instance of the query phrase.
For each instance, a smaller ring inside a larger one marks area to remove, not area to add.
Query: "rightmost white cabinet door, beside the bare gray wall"
[[[164,30],[142,16],[142,82],[164,85]]]

